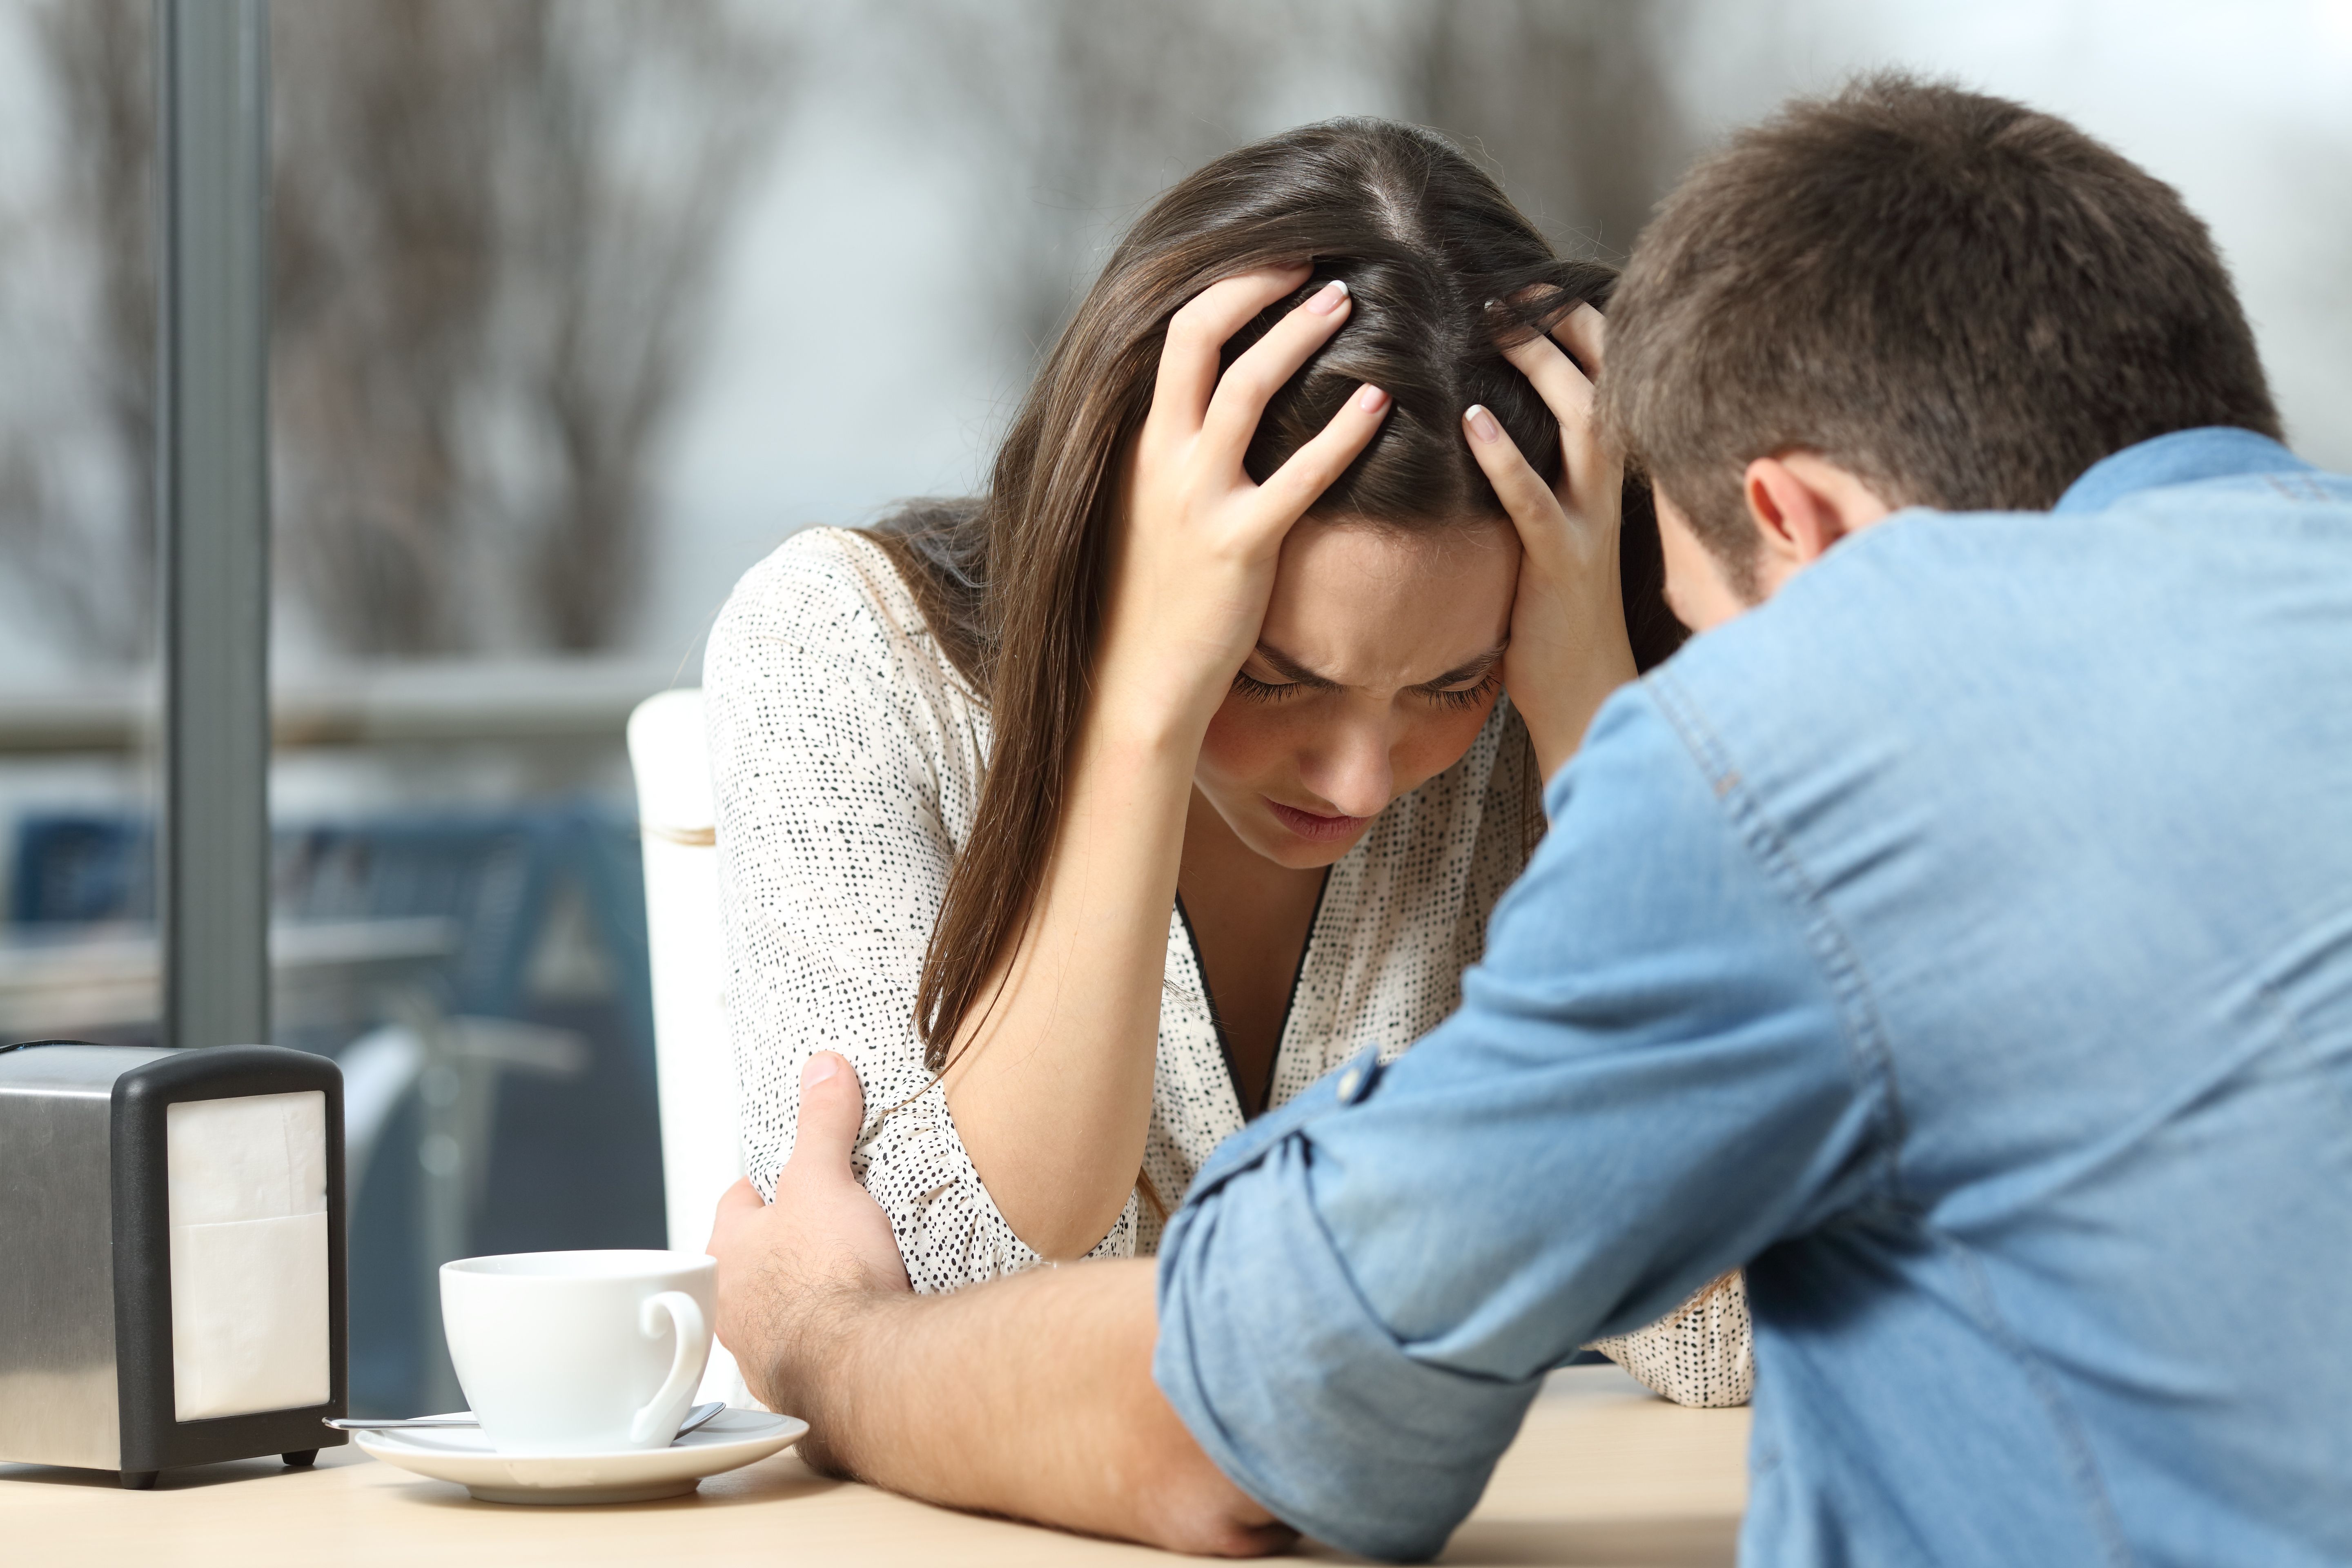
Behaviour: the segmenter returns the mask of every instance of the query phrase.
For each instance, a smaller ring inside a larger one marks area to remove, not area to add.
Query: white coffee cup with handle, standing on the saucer
[[[508,1253],[442,1265],[449,1361],[510,1453],[668,1448],[717,1321],[699,1253]]]

